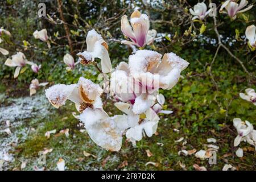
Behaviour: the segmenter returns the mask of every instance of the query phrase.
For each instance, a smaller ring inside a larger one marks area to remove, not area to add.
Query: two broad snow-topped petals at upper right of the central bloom
[[[187,68],[189,63],[173,52],[164,54],[162,60],[161,57],[162,55],[155,51],[137,51],[129,57],[131,75],[147,88],[170,90],[179,81],[181,71]],[[147,82],[142,81],[141,78],[144,77]],[[155,80],[156,78],[159,80]],[[158,82],[159,85],[152,85],[152,82]],[[154,88],[156,86],[158,88]]]

